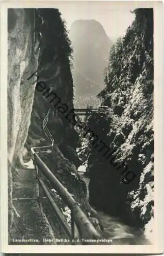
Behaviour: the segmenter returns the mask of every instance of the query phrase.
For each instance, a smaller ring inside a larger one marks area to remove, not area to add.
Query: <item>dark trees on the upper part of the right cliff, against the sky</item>
[[[144,61],[152,63],[153,58],[153,10],[136,9],[134,22],[126,30],[123,38],[118,38],[111,47],[107,67],[107,77],[104,76],[106,90],[113,92],[122,84],[122,80],[128,79],[134,83],[141,72]],[[150,65],[152,67],[152,65]],[[150,67],[150,76],[153,79],[153,70]],[[121,82],[121,83],[120,83]]]

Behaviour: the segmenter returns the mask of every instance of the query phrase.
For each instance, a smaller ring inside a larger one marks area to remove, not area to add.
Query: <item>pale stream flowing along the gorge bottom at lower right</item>
[[[85,177],[84,173],[79,173],[81,179],[86,182],[87,195],[89,198],[89,178]],[[125,245],[136,245],[136,244],[150,244],[149,240],[145,238],[143,230],[129,227],[122,223],[118,218],[105,214],[103,211],[97,210],[98,217],[104,228],[104,234],[107,239],[112,239],[111,245],[125,244]]]

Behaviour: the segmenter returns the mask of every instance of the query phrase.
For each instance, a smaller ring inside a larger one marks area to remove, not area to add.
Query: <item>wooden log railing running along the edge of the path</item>
[[[49,132],[47,132],[46,123],[48,120],[48,116],[44,119],[44,131],[47,133],[47,137],[51,139],[49,136]],[[35,165],[36,176],[38,180],[38,197],[40,204],[43,206],[44,200],[48,199],[51,204],[53,210],[56,212],[56,215],[59,217],[62,226],[64,227],[67,236],[73,241],[73,239],[98,239],[100,238],[100,234],[95,229],[89,218],[86,216],[84,211],[80,208],[78,203],[73,199],[68,190],[62,185],[62,183],[57,179],[57,177],[52,174],[51,170],[47,167],[47,165],[41,160],[38,154],[40,153],[50,153],[52,151],[52,145],[43,146],[43,147],[32,147],[31,151],[33,153],[33,162]],[[59,209],[55,202],[55,197],[52,192],[52,189],[55,189],[59,196],[63,199],[64,204],[69,207],[71,210],[71,226],[66,221],[63,212]]]

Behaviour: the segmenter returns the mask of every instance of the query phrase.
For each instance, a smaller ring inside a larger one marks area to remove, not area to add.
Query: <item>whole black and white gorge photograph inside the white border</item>
[[[7,243],[151,246],[154,7],[52,3],[7,9]]]

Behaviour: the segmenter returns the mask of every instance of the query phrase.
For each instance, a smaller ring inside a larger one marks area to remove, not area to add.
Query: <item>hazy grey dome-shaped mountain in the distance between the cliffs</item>
[[[103,73],[112,41],[96,20],[76,20],[69,36],[73,47],[75,100],[79,96],[93,97],[104,87]]]

